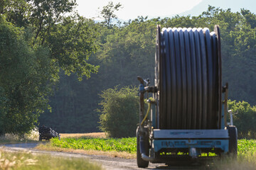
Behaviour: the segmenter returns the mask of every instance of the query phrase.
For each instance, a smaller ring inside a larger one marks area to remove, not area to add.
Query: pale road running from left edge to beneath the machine
[[[32,154],[51,154],[56,157],[74,157],[74,158],[84,158],[90,159],[91,162],[97,164],[102,164],[102,167],[106,170],[127,170],[127,169],[139,169],[137,167],[136,159],[123,159],[116,157],[105,157],[99,155],[87,155],[87,154],[76,154],[76,153],[66,153],[66,152],[46,152],[33,149],[38,143],[20,143],[20,144],[8,144],[2,145],[1,149],[8,152],[31,152]],[[198,166],[165,166],[164,164],[149,164],[147,169],[198,169]],[[202,167],[201,167],[202,168]]]

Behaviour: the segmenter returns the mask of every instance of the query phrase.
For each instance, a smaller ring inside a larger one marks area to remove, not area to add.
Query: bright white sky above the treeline
[[[78,13],[85,18],[97,18],[100,14],[98,8],[106,6],[111,0],[77,0]],[[137,16],[174,16],[183,13],[198,5],[203,0],[112,0],[114,4],[120,2],[123,8],[116,12],[121,20],[137,18]]]

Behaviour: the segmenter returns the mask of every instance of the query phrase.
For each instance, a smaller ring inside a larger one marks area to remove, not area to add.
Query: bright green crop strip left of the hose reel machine
[[[51,139],[50,145],[53,147],[85,149],[99,151],[117,151],[136,153],[136,138],[128,137],[122,139],[110,138],[64,138],[62,140]]]

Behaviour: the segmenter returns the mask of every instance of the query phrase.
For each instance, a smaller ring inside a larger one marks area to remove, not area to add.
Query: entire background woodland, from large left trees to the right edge
[[[79,16],[75,6],[74,0],[0,0],[0,134],[34,125],[99,131],[102,91],[138,86],[137,76],[153,84],[158,24],[219,25],[228,98],[256,105],[255,13],[208,6],[199,16],[121,22],[114,15],[121,4],[109,4],[98,22]]]

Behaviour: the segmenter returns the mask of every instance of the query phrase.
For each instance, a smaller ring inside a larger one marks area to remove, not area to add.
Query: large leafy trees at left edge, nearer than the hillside
[[[73,13],[75,0],[0,3],[0,134],[23,133],[50,110],[60,69],[79,80],[97,72],[87,62],[97,31],[93,21]]]

